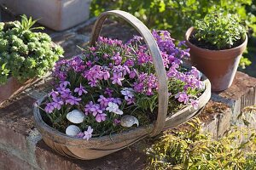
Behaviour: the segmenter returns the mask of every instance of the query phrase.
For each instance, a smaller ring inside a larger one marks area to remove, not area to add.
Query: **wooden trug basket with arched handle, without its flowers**
[[[193,107],[188,106],[181,111],[177,111],[177,113],[173,114],[172,116],[167,116],[168,96],[166,70],[163,65],[163,60],[161,58],[157,43],[154,41],[154,37],[148,30],[147,26],[143,25],[143,23],[133,15],[124,11],[108,11],[102,13],[96,20],[96,24],[90,39],[90,45],[95,45],[96,40],[98,39],[102,30],[102,25],[110,15],[119,16],[120,18],[129,22],[131,26],[134,26],[143,36],[144,41],[148,45],[148,49],[153,57],[155,71],[159,81],[159,108],[157,120],[148,126],[137,127],[136,129],[132,129],[124,133],[116,133],[89,140],[78,139],[69,137],[64,133],[60,133],[53,127],[49,127],[49,125],[43,121],[37,106],[40,105],[44,99],[39,100],[37,105],[34,105],[34,122],[38,128],[38,131],[42,134],[44,142],[61,155],[82,160],[91,160],[102,156],[107,156],[108,154],[134,144],[140,139],[148,136],[155,136],[163,129],[175,127],[188,121],[191,117],[195,116],[204,105],[207,104],[211,97],[211,84],[206,77],[203,77],[206,84],[206,90],[199,97],[199,109],[195,110]]]

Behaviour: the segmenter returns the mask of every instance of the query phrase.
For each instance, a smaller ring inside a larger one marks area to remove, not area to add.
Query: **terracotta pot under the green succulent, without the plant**
[[[0,105],[4,100],[11,98],[15,94],[27,88],[32,83],[36,82],[37,79],[29,79],[26,82],[20,83],[14,77],[10,77],[8,82],[0,86]]]

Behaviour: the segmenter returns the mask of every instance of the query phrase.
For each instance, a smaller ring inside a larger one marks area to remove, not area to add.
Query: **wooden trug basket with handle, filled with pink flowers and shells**
[[[143,37],[99,37],[108,15],[129,21]],[[175,127],[207,104],[210,82],[182,65],[189,49],[177,47],[167,31],[152,34],[124,11],[99,17],[83,56],[57,62],[52,91],[34,105],[46,144],[65,156],[96,159]]]

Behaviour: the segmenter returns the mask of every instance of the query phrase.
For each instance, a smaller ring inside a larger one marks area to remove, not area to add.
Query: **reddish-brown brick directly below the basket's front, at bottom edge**
[[[44,141],[40,141],[36,148],[36,159],[38,167],[44,170],[140,170],[145,168],[146,156],[131,147],[96,160],[80,161],[61,156],[44,144]]]

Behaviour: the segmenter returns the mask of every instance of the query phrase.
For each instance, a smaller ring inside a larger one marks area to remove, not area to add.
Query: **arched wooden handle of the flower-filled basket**
[[[102,26],[104,21],[108,18],[109,15],[118,16],[128,23],[131,24],[136,30],[142,35],[144,42],[146,42],[149,52],[152,55],[153,63],[156,71],[156,77],[158,78],[159,87],[158,87],[158,116],[154,124],[154,129],[150,133],[150,136],[155,136],[159,134],[162,129],[165,127],[166,115],[167,115],[167,105],[168,105],[168,88],[167,88],[167,77],[166,70],[163,64],[163,59],[160,54],[160,49],[158,48],[157,43],[154,40],[154,37],[151,34],[151,31],[148,30],[148,27],[143,24],[142,21],[138,20],[132,14],[126,13],[121,10],[112,10],[102,13],[92,30],[92,35],[90,37],[90,46],[95,46],[98,37],[102,31]]]

